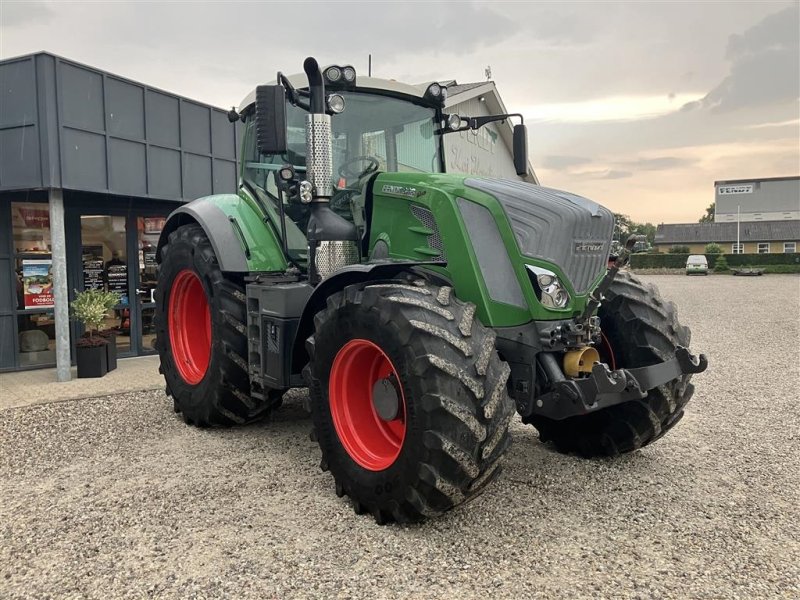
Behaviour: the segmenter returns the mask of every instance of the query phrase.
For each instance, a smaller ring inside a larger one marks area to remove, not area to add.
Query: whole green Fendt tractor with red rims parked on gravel
[[[519,115],[448,115],[437,83],[304,70],[231,111],[238,194],[181,206],[159,241],[157,347],[187,423],[249,423],[308,387],[322,469],[385,523],[480,493],[515,411],[587,457],[680,420],[706,360],[674,305],[620,271],[636,240],[608,263],[612,213],[444,173],[442,136]],[[513,142],[522,175],[524,125]]]

